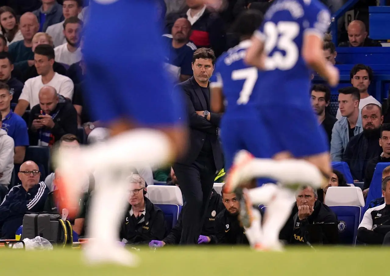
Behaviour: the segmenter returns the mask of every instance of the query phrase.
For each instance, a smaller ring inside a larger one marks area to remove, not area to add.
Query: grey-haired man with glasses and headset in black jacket
[[[161,241],[165,235],[164,214],[145,197],[145,180],[138,174],[129,178],[129,207],[122,222],[120,237],[129,244]]]

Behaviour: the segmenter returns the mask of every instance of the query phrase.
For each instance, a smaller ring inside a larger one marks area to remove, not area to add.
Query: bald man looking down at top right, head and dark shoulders
[[[365,25],[360,20],[354,20],[348,25],[348,40],[341,42],[339,47],[382,47],[376,40],[367,37]]]

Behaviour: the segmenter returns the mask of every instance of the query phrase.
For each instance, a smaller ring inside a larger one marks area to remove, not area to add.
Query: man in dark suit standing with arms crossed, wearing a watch
[[[193,76],[179,84],[184,90],[190,128],[188,152],[173,165],[187,205],[180,244],[197,243],[216,172],[223,166],[218,141],[221,115],[209,112],[209,78],[214,64],[213,50],[197,49],[192,58]]]

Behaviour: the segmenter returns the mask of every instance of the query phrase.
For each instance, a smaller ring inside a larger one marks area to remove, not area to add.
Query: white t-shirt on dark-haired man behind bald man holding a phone
[[[74,85],[69,77],[62,76],[58,73],[54,74],[53,79],[46,84],[42,83],[42,76],[32,77],[25,82],[19,100],[27,100],[30,103],[30,108],[39,104],[38,93],[43,86],[53,86],[57,93],[65,98],[72,99]]]

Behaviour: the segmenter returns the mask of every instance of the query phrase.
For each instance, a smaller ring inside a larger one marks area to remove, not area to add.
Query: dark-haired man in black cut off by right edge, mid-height
[[[390,124],[383,124],[380,131],[379,146],[382,148],[382,153],[367,162],[363,191],[370,188],[376,164],[390,162]]]

